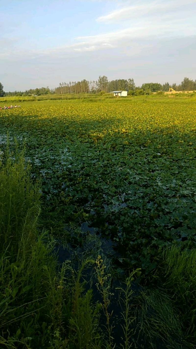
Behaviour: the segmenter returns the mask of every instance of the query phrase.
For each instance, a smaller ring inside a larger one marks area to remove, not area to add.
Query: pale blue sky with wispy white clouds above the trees
[[[5,91],[196,79],[196,0],[0,0]]]

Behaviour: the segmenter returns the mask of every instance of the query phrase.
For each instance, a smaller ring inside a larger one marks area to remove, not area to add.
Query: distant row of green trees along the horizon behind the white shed
[[[175,91],[194,91],[196,90],[196,80],[185,77],[182,82],[170,84],[165,82],[160,84],[158,82],[143,83],[142,86],[135,86],[133,78],[108,80],[108,77],[99,76],[97,80],[88,81],[86,79],[81,81],[60,82],[59,86],[54,89],[49,87],[41,87],[36,89],[29,89],[26,91],[4,92],[3,85],[0,83],[0,97],[2,96],[40,96],[47,94],[96,94],[102,92],[111,92],[126,90],[129,94],[148,94],[150,92],[169,91],[173,88]]]

